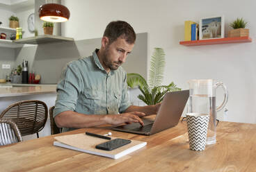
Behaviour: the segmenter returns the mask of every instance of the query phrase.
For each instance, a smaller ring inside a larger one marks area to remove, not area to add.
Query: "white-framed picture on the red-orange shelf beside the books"
[[[224,37],[224,16],[200,19],[199,39],[216,39]]]

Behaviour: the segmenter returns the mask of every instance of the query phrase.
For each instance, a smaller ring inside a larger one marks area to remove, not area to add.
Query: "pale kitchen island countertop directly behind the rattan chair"
[[[56,93],[56,85],[0,87],[0,97]]]

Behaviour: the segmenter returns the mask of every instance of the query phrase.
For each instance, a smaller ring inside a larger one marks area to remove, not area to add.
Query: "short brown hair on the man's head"
[[[118,37],[125,39],[128,44],[134,44],[136,40],[136,33],[134,32],[134,28],[131,27],[125,21],[114,21],[110,22],[103,34],[104,37],[109,37],[109,43],[111,44]]]

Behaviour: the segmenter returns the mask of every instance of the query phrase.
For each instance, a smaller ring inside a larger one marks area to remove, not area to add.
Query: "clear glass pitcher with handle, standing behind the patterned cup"
[[[224,100],[216,107],[216,88],[222,87]],[[189,80],[189,106],[188,113],[209,114],[209,125],[207,130],[206,144],[216,143],[216,116],[227,103],[227,87],[221,82],[214,83],[214,80]]]

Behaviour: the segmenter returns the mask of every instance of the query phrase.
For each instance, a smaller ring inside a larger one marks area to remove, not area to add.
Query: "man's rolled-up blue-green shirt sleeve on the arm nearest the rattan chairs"
[[[79,74],[72,64],[67,65],[61,74],[57,85],[57,98],[54,107],[54,117],[67,110],[75,110],[77,98],[81,90]]]

